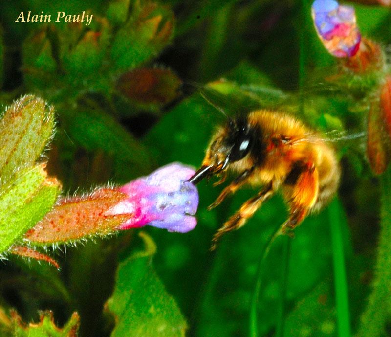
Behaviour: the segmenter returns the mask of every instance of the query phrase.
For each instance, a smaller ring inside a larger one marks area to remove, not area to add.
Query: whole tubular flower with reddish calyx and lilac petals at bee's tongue
[[[59,244],[145,225],[188,232],[196,225],[198,206],[197,189],[186,181],[194,173],[172,163],[122,187],[63,199],[24,239],[32,245]]]

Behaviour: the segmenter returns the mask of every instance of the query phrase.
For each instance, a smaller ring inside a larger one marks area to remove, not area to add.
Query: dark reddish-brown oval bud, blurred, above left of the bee
[[[141,68],[123,74],[117,88],[136,103],[162,106],[178,97],[181,84],[170,70]]]

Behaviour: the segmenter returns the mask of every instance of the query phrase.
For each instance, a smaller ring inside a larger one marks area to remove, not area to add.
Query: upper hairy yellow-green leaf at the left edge
[[[19,167],[32,165],[54,130],[54,109],[41,98],[26,95],[0,120],[0,178],[4,184]]]

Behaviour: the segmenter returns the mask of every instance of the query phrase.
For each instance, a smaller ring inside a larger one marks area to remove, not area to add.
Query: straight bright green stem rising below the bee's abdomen
[[[328,207],[333,251],[335,302],[337,310],[338,336],[348,337],[350,333],[350,313],[348,304],[348,286],[346,281],[344,244],[341,233],[340,209],[338,199]]]

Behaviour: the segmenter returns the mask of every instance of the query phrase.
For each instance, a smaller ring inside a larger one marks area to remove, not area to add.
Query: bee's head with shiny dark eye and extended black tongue
[[[245,118],[230,119],[217,130],[206,151],[201,168],[189,179],[193,184],[227,169],[230,163],[247,156],[254,143],[254,136]]]

